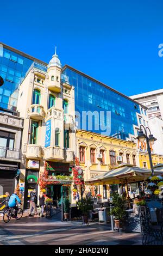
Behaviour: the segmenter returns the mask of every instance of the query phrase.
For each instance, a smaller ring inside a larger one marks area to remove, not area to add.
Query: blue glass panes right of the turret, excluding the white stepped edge
[[[98,113],[103,111],[104,120],[100,120],[99,117],[99,122],[96,117],[93,117],[94,125],[90,130],[88,119],[86,119],[87,124],[84,130],[121,139],[129,137],[129,133],[134,135],[133,125],[138,125],[136,112],[140,113],[139,104],[71,68],[65,68],[62,74],[68,76],[69,83],[75,88],[75,109],[80,113],[80,128],[83,127],[82,111]],[[106,118],[107,111],[110,111],[111,119]],[[110,127],[110,134],[106,134],[106,131],[101,129],[102,126],[99,126],[102,121],[104,126]]]

